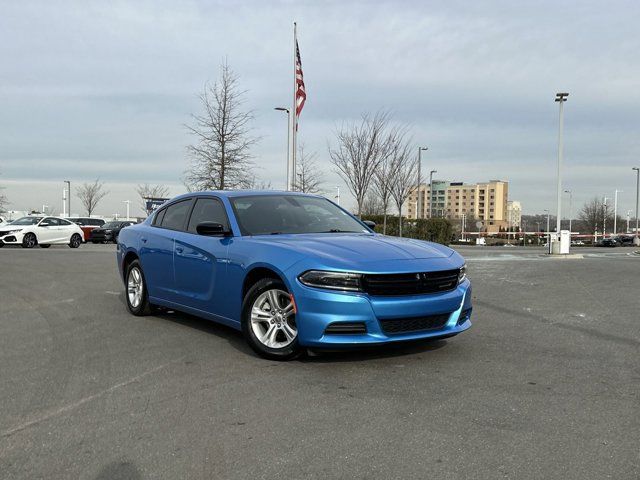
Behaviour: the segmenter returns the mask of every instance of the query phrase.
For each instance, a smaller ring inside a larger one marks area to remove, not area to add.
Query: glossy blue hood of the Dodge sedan
[[[386,262],[448,258],[453,250],[444,245],[377,234],[303,234],[252,237],[253,241],[295,251],[304,257],[321,257],[336,263]]]

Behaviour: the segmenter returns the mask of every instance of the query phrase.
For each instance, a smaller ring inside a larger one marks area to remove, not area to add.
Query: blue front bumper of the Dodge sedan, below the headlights
[[[307,347],[348,348],[406,342],[455,335],[471,327],[471,283],[463,281],[452,291],[398,297],[372,297],[302,285],[296,280],[292,291],[297,306],[298,339]],[[446,316],[436,328],[385,333],[382,322]],[[365,333],[327,333],[329,325],[362,324]]]

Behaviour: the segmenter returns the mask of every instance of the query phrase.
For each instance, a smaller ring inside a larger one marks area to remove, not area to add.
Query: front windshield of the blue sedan
[[[230,200],[243,235],[369,232],[326,198],[252,195]]]

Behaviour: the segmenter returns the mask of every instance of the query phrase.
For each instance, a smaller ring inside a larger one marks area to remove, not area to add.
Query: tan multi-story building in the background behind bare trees
[[[417,192],[420,194],[420,205],[418,205]],[[501,180],[471,185],[434,180],[433,193],[430,185],[423,184],[409,194],[407,216],[418,218],[418,211],[421,218],[433,216],[460,219],[466,215],[468,219],[472,217],[476,221],[481,221],[483,230],[497,232],[500,228],[506,229],[509,225],[508,197],[509,183]],[[520,209],[520,204],[516,203]]]

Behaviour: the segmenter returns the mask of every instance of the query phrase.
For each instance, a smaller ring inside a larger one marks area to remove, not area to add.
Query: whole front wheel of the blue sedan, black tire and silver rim
[[[291,360],[302,353],[295,306],[282,281],[265,278],[249,289],[242,304],[242,333],[263,358]]]

